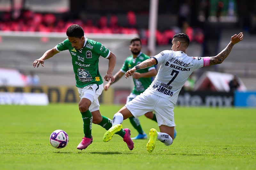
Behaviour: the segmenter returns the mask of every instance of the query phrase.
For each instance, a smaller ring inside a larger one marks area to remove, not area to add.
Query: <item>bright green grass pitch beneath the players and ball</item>
[[[122,106],[101,105],[101,114],[113,118]],[[102,141],[105,129],[92,125],[93,143],[76,149],[83,137],[77,104],[49,106],[0,105],[0,169],[256,169],[256,109],[176,107],[177,137],[171,146],[160,141],[152,153],[148,140],[134,140],[130,151],[122,138]],[[156,122],[140,117],[145,132]],[[129,120],[124,128],[137,132]],[[69,143],[55,149],[52,131],[63,129]]]

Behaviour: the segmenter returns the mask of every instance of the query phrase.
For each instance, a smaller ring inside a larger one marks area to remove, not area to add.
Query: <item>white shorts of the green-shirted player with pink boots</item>
[[[100,85],[92,84],[87,85],[85,87],[77,87],[80,99],[86,98],[91,100],[92,104],[89,107],[90,112],[96,111],[100,109],[100,103],[98,97],[103,91],[103,83]]]

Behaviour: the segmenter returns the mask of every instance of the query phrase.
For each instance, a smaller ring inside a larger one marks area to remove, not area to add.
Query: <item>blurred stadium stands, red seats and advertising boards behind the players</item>
[[[135,36],[142,40],[142,52],[153,56],[171,48],[175,33],[185,32],[191,40],[189,56],[214,56],[233,34],[243,32],[244,40],[222,64],[193,73],[195,85],[181,91],[178,105],[256,107],[255,11],[256,1],[246,0],[0,0],[0,92],[44,92],[52,103],[78,102],[67,51],[46,60],[44,67],[32,66],[67,38],[71,24],[83,26],[87,38],[117,56],[113,74],[131,55],[129,44]],[[108,60],[101,58],[101,75],[107,68]],[[30,74],[40,83],[28,84]],[[240,88],[231,92],[228,82],[234,75]],[[122,78],[102,93],[100,101],[125,103],[132,86],[132,79]],[[9,98],[2,95],[0,103],[20,102]]]

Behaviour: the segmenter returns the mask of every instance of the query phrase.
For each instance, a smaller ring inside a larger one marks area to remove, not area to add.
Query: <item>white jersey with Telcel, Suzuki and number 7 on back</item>
[[[203,57],[190,57],[182,51],[164,50],[153,58],[156,59],[156,64],[161,66],[146,91],[168,99],[174,104],[189,75],[194,70],[209,65],[204,64]]]

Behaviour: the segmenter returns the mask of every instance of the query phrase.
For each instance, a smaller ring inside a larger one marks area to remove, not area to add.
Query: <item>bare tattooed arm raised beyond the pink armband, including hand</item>
[[[244,37],[243,33],[239,33],[238,35],[235,34],[231,37],[230,42],[228,43],[227,47],[224,48],[218,55],[214,56],[214,57],[209,57],[210,58],[210,65],[216,65],[216,64],[220,64],[223,62],[223,60],[225,60],[225,58],[227,58],[227,56],[229,55],[229,53],[231,52],[233,46],[242,41]]]

